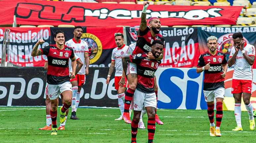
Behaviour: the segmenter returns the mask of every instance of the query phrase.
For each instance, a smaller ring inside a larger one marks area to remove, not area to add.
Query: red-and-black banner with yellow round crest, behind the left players
[[[74,37],[74,28],[51,27],[51,35],[57,30],[64,31],[65,41]],[[115,44],[115,33],[123,33],[122,27],[83,27],[82,40],[85,40],[89,48],[90,67],[109,67],[111,54]],[[54,36],[50,42],[55,44]],[[74,51],[79,52],[79,51]]]

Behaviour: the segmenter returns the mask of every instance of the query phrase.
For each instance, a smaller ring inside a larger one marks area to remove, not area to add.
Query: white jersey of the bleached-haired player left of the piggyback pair
[[[122,56],[126,55],[126,51],[129,47],[123,45],[121,48],[114,48],[112,51],[111,60],[115,61],[115,76],[122,76],[123,66],[122,66]]]

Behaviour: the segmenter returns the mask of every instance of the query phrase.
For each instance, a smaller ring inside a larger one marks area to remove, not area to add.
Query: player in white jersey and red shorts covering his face
[[[235,64],[232,79],[232,91],[235,98],[235,121],[237,127],[232,131],[243,131],[241,125],[241,97],[249,114],[250,130],[254,130],[255,121],[253,107],[250,103],[252,92],[252,65],[255,58],[255,48],[243,41],[242,33],[233,34],[234,47],[230,52],[228,66]]]

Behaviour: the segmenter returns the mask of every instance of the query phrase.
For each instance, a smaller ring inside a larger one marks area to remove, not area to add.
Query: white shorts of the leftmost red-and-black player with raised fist
[[[70,82],[65,82],[61,84],[48,84],[46,88],[46,95],[48,95],[50,100],[55,100],[62,92],[66,90],[72,91],[72,84]]]

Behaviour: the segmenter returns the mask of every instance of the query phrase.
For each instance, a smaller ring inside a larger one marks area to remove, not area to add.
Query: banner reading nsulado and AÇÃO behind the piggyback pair
[[[139,27],[126,27],[127,44],[137,40]],[[159,67],[194,67],[199,53],[197,28],[161,28],[160,34],[165,38],[165,49]]]

